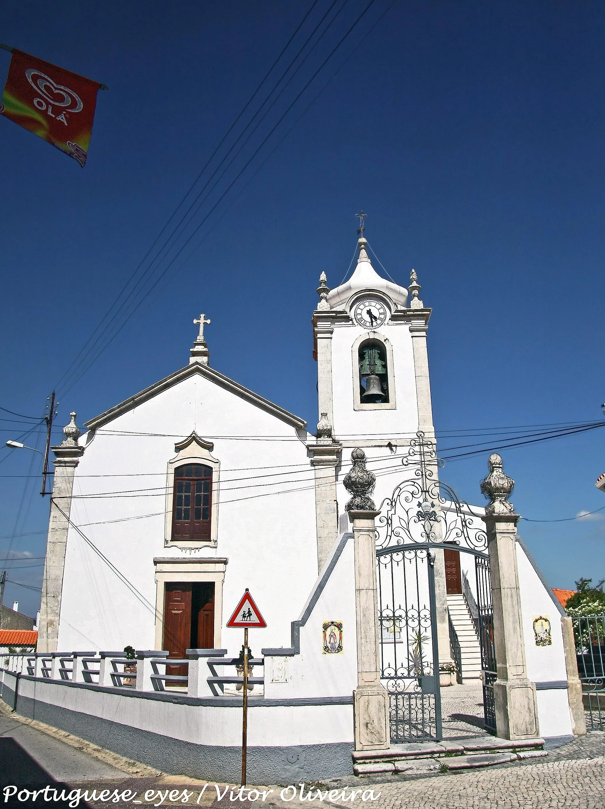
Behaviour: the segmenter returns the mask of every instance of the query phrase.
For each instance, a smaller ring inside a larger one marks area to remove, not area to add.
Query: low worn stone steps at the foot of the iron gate
[[[353,752],[353,773],[375,775],[405,773],[447,772],[474,769],[508,761],[547,756],[542,749],[544,739],[524,739],[511,742],[497,736],[478,736],[476,739],[425,742],[417,744],[391,744],[389,750],[361,750]]]

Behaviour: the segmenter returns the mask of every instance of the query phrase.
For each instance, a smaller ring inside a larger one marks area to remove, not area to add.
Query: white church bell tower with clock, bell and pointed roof
[[[346,522],[342,478],[350,451],[362,447],[370,467],[375,461],[378,506],[391,494],[389,468],[410,439],[418,430],[434,437],[426,349],[430,309],[419,297],[416,272],[408,288],[381,277],[370,262],[363,227],[361,234],[353,275],[330,290],[321,273],[313,313],[319,422],[308,449],[315,468],[319,570],[339,522],[341,530]]]

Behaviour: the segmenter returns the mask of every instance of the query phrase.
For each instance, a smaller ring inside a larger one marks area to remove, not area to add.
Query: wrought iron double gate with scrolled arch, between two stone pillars
[[[485,726],[495,732],[487,536],[467,503],[436,480],[434,440],[418,433],[402,464],[413,477],[381,504],[376,536],[380,676],[389,695],[391,742],[442,738],[434,560],[435,550],[446,548],[475,557],[476,597],[467,579],[464,596],[480,642]]]

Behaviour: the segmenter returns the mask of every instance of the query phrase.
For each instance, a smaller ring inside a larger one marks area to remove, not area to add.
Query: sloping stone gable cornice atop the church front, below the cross
[[[107,424],[108,421],[112,421],[114,418],[121,416],[122,413],[127,413],[129,410],[142,404],[142,402],[153,398],[153,396],[158,396],[159,393],[167,390],[167,388],[171,388],[173,385],[182,382],[183,379],[188,379],[188,377],[196,374],[205,376],[206,379],[220,385],[221,388],[235,393],[235,396],[239,396],[249,401],[251,404],[256,404],[256,407],[265,410],[267,413],[271,413],[272,416],[281,419],[281,421],[286,421],[286,424],[291,424],[293,427],[298,428],[298,430],[303,430],[307,426],[307,421],[303,418],[294,416],[293,413],[288,413],[287,410],[279,407],[278,404],[273,404],[269,399],[265,399],[264,396],[259,396],[258,393],[244,388],[243,385],[234,382],[233,379],[229,379],[218,371],[214,371],[214,368],[202,365],[201,362],[192,362],[191,365],[181,368],[180,371],[175,371],[174,374],[167,376],[165,379],[160,379],[159,382],[151,385],[150,388],[145,388],[144,391],[130,396],[129,399],[126,399],[120,404],[116,404],[115,407],[112,407],[112,409],[107,410],[105,413],[101,413],[100,416],[96,416],[92,418],[91,421],[87,421],[86,426],[89,430],[96,430],[98,427]]]

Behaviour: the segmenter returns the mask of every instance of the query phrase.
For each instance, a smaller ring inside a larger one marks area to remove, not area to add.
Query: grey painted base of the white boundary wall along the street
[[[13,708],[15,692],[5,682],[2,700]],[[49,705],[30,697],[17,698],[16,712],[58,727],[80,739],[160,769],[205,781],[239,783],[240,748],[211,747],[171,739],[120,725],[109,719]],[[247,748],[247,781],[251,784],[297,784],[321,778],[353,775],[353,744],[312,744],[290,748]]]

